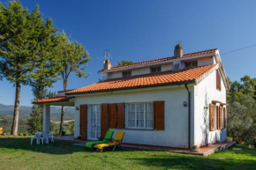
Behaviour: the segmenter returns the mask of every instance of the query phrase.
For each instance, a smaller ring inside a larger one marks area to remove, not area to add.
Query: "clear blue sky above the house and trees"
[[[6,1],[1,1],[6,2]],[[256,47],[222,55],[256,44],[256,1],[222,0],[21,0],[30,11],[39,4],[44,18],[52,18],[56,28],[86,46],[92,57],[86,70],[89,78],[69,79],[69,89],[90,85],[102,78],[99,59],[109,49],[111,63],[129,59],[146,61],[173,55],[182,41],[184,53],[219,48],[231,80],[256,77]],[[0,81],[0,103],[14,103],[15,88]],[[51,91],[63,90],[62,82]],[[31,105],[33,94],[22,86],[20,105]]]

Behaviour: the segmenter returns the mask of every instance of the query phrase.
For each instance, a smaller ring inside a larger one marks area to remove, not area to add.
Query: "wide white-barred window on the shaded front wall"
[[[153,129],[153,103],[127,103],[126,128]]]

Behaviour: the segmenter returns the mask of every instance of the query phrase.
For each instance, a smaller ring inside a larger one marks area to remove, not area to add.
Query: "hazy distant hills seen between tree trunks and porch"
[[[0,115],[6,117],[13,116],[13,105],[4,105],[0,103]],[[65,120],[74,119],[74,107],[65,107]],[[32,112],[32,107],[20,106],[19,107],[19,119],[27,119],[30,117]],[[51,121],[58,122],[60,121],[61,116],[61,107],[50,107],[50,119]]]

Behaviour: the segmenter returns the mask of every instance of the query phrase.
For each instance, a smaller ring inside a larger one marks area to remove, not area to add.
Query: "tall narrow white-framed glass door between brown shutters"
[[[101,137],[102,108],[101,105],[89,105],[89,138],[98,139]]]

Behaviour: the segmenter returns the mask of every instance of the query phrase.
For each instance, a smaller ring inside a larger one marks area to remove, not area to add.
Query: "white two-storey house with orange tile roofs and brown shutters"
[[[227,138],[226,90],[230,88],[217,48],[124,66],[104,62],[102,81],[59,92],[43,103],[43,131],[49,107],[73,106],[75,134],[85,140],[108,129],[125,132],[124,143],[178,148],[222,143]]]

